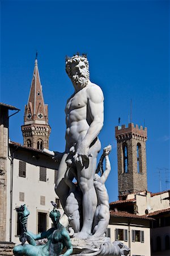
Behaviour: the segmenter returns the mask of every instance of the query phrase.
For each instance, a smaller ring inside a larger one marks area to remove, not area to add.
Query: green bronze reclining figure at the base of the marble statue
[[[69,256],[73,252],[69,233],[59,223],[60,213],[54,208],[50,214],[50,218],[53,221],[54,228],[39,233],[37,235],[27,231],[22,234],[22,237],[27,239],[29,244],[17,245],[14,247],[14,255],[25,255],[25,256],[58,256],[61,255],[62,250],[66,247],[63,256]],[[24,221],[24,219],[23,219]],[[22,222],[21,222],[22,224]],[[21,238],[22,238],[21,237]],[[47,238],[48,241],[44,245],[36,245],[36,240]]]

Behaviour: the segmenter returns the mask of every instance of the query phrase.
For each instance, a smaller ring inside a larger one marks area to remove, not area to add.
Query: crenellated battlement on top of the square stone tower
[[[116,139],[121,138],[137,138],[143,141],[147,141],[147,127],[134,125],[134,123],[129,123],[128,127],[125,125],[115,127],[115,137]]]

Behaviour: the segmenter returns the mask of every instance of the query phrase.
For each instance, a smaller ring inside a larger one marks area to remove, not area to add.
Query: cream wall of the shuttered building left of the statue
[[[14,159],[14,181],[13,181],[13,204],[12,204],[12,242],[19,243],[16,236],[16,211],[15,207],[26,204],[29,209],[28,230],[37,233],[37,214],[38,212],[46,212],[47,228],[51,228],[52,221],[49,218],[49,212],[53,209],[50,201],[55,201],[57,197],[54,191],[54,170],[46,170],[46,182],[39,180],[39,166],[33,166],[26,163],[26,177],[19,177],[19,160]],[[10,170],[8,170],[10,172]],[[8,173],[8,177],[10,173]],[[8,188],[10,187],[8,180]],[[10,218],[10,189],[8,189],[8,210],[7,216]],[[19,192],[24,192],[24,202],[19,201]],[[45,196],[45,205],[40,205],[40,196]],[[61,212],[62,209],[61,209]],[[10,223],[7,225],[6,241],[9,241]]]

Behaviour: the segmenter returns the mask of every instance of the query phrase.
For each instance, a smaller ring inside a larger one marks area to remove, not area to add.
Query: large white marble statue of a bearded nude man
[[[59,165],[56,193],[65,209],[69,187],[65,184],[64,177],[67,164],[74,163],[74,172],[83,193],[83,226],[78,237],[85,239],[91,234],[97,205],[94,175],[97,154],[101,148],[97,136],[103,127],[104,97],[100,87],[89,79],[86,55],[66,59],[66,72],[73,82],[75,92],[67,100],[65,109],[66,148]]]

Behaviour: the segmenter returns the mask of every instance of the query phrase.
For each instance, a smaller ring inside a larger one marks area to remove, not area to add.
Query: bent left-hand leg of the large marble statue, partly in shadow
[[[58,168],[58,175],[56,182],[55,191],[56,194],[59,197],[59,200],[61,201],[62,208],[65,209],[66,199],[67,195],[69,194],[69,187],[66,185],[64,181],[64,177],[67,171],[67,164],[66,164],[66,158],[68,154],[64,154],[61,163],[59,164]]]

